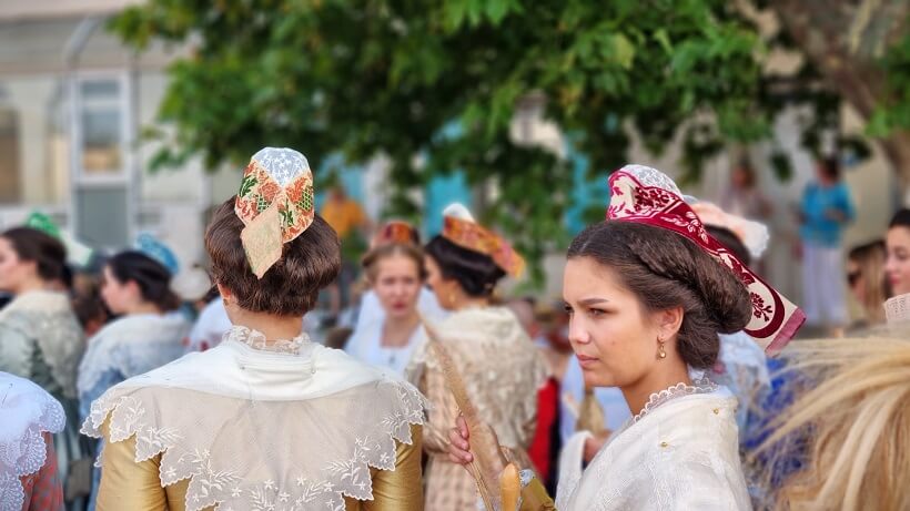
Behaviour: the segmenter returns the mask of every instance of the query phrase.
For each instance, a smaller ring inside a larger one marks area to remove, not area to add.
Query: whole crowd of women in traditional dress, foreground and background
[[[525,262],[461,204],[426,243],[342,193],[316,214],[287,149],[215,208],[193,285],[148,237],[91,275],[0,233],[0,510],[908,509],[910,209],[832,279],[855,213],[821,162],[803,313],[740,174],[715,205],[614,172],[558,305],[503,296]],[[852,337],[788,344],[807,317]]]

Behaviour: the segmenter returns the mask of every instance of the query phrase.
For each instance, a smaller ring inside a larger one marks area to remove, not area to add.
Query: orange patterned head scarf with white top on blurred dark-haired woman
[[[443,212],[442,236],[462,248],[489,256],[496,266],[513,277],[525,270],[525,259],[502,236],[485,229],[474,221],[462,204],[453,204]]]

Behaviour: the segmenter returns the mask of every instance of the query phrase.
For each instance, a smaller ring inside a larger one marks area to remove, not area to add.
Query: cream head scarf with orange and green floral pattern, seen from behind
[[[281,259],[285,243],[313,223],[313,173],[303,154],[265,147],[243,172],[234,212],[245,227],[240,238],[256,277]]]

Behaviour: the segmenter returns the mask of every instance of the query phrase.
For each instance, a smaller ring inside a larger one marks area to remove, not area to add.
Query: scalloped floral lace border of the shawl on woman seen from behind
[[[185,497],[188,511],[212,505],[224,510],[344,511],[344,497],[373,499],[371,468],[395,470],[395,441],[411,444],[411,426],[424,423],[427,401],[412,385],[381,380],[377,389],[378,396],[371,394],[364,397],[364,402],[351,405],[351,416],[346,417],[350,427],[337,430],[338,435],[347,431],[350,441],[320,446],[287,439],[282,450],[293,462],[284,469],[285,473],[252,470],[252,467],[261,467],[261,459],[244,453],[236,443],[212,443],[211,431],[193,421],[185,427],[158,423],[160,417],[153,409],[156,403],[149,402],[148,396],[109,392],[92,403],[82,433],[101,438],[101,427],[110,419],[108,440],[119,442],[134,436],[136,462],[161,454],[162,488],[190,480]],[[301,406],[286,409],[287,422],[301,423],[302,417],[312,419],[314,410],[305,401],[292,402]],[[274,419],[274,415],[269,418]],[[333,417],[324,419],[331,421]],[[220,418],[213,420],[223,423]],[[251,420],[265,421],[263,417]],[[302,460],[307,460],[311,467],[304,468]],[[95,466],[101,467],[100,458]],[[259,473],[262,479],[247,479],[245,476],[250,473]]]

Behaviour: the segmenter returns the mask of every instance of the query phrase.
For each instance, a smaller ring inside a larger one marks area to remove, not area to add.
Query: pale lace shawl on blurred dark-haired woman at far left
[[[63,395],[75,397],[77,368],[85,343],[67,295],[37,290],[17,296],[0,310],[0,325],[22,334],[21,339],[0,343],[0,364],[32,376],[21,371],[31,366],[37,346]]]

